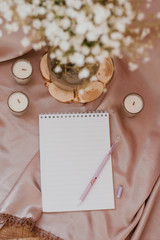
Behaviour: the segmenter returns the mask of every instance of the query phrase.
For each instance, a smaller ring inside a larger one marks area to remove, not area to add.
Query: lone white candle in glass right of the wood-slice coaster
[[[142,111],[143,107],[143,98],[137,93],[130,93],[123,100],[123,109],[128,117],[137,115]]]

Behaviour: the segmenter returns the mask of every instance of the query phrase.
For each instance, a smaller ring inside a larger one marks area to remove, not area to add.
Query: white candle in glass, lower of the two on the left
[[[29,105],[29,99],[23,92],[13,92],[8,97],[8,107],[16,116],[23,115]]]

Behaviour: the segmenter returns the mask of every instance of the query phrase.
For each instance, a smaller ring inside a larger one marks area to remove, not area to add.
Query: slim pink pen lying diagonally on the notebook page
[[[105,155],[104,159],[102,160],[101,164],[99,165],[97,171],[95,172],[95,174],[93,175],[91,181],[88,183],[87,187],[85,188],[84,192],[82,193],[82,195],[80,196],[80,200],[79,200],[79,204],[80,205],[84,199],[87,197],[90,189],[92,188],[93,184],[95,183],[95,181],[97,180],[99,174],[101,173],[102,169],[104,168],[105,164],[107,163],[108,159],[110,158],[110,155],[112,154],[112,152],[114,151],[117,143],[119,142],[119,138],[117,138],[117,140],[113,143],[113,145],[111,146],[111,148],[109,149],[108,153]]]

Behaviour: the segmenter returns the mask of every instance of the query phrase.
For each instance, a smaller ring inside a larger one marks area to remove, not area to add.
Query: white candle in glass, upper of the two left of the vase
[[[12,65],[12,74],[19,84],[26,84],[31,80],[33,67],[31,62],[19,59]]]

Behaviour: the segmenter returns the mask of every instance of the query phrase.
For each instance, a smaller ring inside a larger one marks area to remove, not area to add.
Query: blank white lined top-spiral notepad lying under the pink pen
[[[113,209],[111,158],[79,198],[110,148],[108,113],[39,115],[43,212]]]

